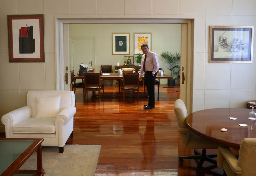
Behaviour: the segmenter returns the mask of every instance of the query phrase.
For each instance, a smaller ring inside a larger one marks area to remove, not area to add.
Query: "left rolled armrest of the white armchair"
[[[32,108],[29,106],[24,106],[3,115],[1,121],[5,126],[13,126],[23,120],[30,118],[31,116]]]

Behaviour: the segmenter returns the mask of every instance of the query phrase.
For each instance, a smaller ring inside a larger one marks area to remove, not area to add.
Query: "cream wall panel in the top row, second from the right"
[[[232,0],[206,0],[206,15],[232,15]]]

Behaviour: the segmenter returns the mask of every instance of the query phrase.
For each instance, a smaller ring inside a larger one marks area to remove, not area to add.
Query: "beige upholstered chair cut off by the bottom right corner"
[[[219,146],[217,165],[228,176],[255,176],[256,139],[243,139],[239,149],[239,158],[229,148]]]

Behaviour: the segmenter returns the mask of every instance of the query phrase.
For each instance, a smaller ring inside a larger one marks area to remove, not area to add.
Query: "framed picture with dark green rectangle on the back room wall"
[[[130,33],[112,33],[112,55],[130,54]]]

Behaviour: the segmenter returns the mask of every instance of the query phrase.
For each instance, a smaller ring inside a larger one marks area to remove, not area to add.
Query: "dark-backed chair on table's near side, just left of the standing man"
[[[136,92],[139,101],[139,73],[123,73],[123,102],[125,92]]]

